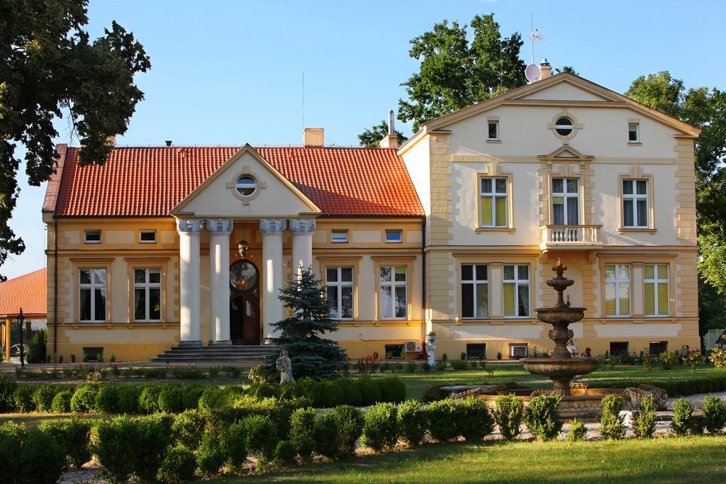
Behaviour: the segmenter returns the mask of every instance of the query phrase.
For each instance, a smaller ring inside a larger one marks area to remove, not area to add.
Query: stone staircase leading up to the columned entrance
[[[203,346],[201,348],[186,348],[172,346],[171,349],[151,358],[151,361],[160,363],[219,363],[242,364],[256,366],[264,363],[265,358],[278,346]]]

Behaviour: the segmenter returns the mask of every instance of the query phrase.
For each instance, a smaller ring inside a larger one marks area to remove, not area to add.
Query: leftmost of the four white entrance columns
[[[179,346],[201,346],[199,234],[204,222],[179,220]]]

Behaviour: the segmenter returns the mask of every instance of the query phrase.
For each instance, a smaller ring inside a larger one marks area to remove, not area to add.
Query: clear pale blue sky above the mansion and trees
[[[658,70],[726,89],[722,1],[91,0],[88,29],[99,36],[116,20],[151,57],[137,78],[146,99],[117,144],[301,144],[304,71],[305,125],[325,128],[327,144],[351,145],[404,97],[399,84],[417,68],[411,38],[489,12],[503,35],[522,34],[527,63],[533,15],[545,36],[537,62],[574,66],[621,93]],[[65,120],[57,129],[57,142],[68,143]],[[28,248],[0,267],[11,277],[46,263],[45,185],[28,186],[21,174],[20,186],[11,226]]]

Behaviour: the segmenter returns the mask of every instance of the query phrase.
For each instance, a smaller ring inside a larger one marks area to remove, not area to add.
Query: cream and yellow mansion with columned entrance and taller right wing
[[[560,258],[580,350],[700,348],[699,130],[570,73],[424,123],[399,146],[115,147],[48,184],[49,353],[140,361],[264,345],[300,267],[351,358],[552,350]],[[393,132],[393,131],[391,131]]]

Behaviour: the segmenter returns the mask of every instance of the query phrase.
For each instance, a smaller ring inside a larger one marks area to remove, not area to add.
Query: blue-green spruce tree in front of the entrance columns
[[[338,377],[338,370],[346,361],[346,351],[333,340],[321,335],[338,331],[338,321],[330,319],[325,287],[313,274],[312,268],[302,268],[286,289],[277,297],[292,313],[290,317],[272,323],[279,337],[272,338],[274,345],[287,350],[293,362],[293,377],[315,380]],[[280,355],[274,353],[270,361]]]

